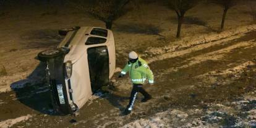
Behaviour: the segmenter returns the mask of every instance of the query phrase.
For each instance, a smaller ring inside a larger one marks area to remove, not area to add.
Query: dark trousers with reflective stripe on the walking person
[[[150,95],[144,90],[144,88],[142,87],[142,84],[134,83],[134,86],[132,87],[132,92],[130,93],[129,105],[127,106],[127,109],[130,110],[130,111],[132,110],[132,108],[134,108],[134,103],[135,103],[136,96],[137,96],[138,92],[142,93],[142,95],[143,95],[144,97],[150,96]]]

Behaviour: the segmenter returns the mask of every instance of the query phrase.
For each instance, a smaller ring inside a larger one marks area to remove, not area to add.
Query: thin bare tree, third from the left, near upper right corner
[[[212,1],[215,4],[218,4],[223,7],[223,15],[221,20],[221,30],[223,30],[227,12],[231,7],[237,4],[237,0],[212,0]]]

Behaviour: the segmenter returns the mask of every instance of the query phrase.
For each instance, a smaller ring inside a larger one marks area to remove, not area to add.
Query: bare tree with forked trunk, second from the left
[[[184,15],[189,9],[196,6],[198,0],[168,0],[168,7],[174,10],[177,14],[178,26],[176,38],[181,36],[181,25],[184,21]]]

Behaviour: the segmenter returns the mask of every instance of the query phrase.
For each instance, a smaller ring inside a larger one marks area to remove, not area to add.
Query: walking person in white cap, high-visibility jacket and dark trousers
[[[154,83],[153,72],[150,70],[147,62],[140,58],[138,54],[135,53],[135,51],[131,51],[129,53],[129,61],[127,62],[124,69],[122,69],[121,74],[119,74],[119,78],[124,77],[127,72],[129,72],[130,80],[133,83],[133,87],[132,92],[130,93],[129,104],[124,110],[125,115],[131,113],[138,92],[142,93],[142,95],[144,96],[142,102],[146,102],[152,98],[151,95],[144,90],[143,83],[145,83],[147,79],[150,85],[153,85]]]

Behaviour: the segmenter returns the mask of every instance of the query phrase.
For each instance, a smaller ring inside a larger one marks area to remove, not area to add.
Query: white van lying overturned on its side
[[[66,36],[58,48],[41,51],[38,59],[46,62],[54,109],[73,114],[113,76],[114,37],[111,30],[98,27],[66,28],[59,34]]]

